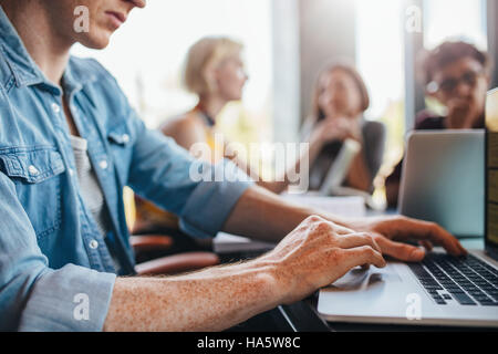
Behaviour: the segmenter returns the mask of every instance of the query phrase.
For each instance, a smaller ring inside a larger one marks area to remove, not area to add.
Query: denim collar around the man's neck
[[[2,34],[0,37],[0,54],[3,54],[6,58],[7,63],[15,79],[17,86],[30,86],[40,83],[45,83],[49,86],[53,86],[53,83],[45,77],[43,72],[28,53],[24,43],[1,6],[0,33]],[[79,65],[73,58],[71,58],[64,71],[63,82],[64,85],[71,91],[81,90],[85,84],[95,81],[94,75],[89,75],[89,73],[80,66],[81,65]]]

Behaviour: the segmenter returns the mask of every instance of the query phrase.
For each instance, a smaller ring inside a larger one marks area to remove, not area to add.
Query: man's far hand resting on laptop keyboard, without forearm
[[[449,254],[464,256],[467,251],[448,231],[434,222],[414,220],[403,216],[363,219],[349,225],[357,231],[371,232],[382,253],[407,262],[418,262],[425,249],[442,246]],[[402,242],[400,242],[402,241]],[[416,241],[421,247],[405,243]]]

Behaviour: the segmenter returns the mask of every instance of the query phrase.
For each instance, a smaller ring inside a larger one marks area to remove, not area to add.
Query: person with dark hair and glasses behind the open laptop
[[[484,128],[486,92],[490,83],[491,64],[488,55],[466,42],[444,42],[421,56],[421,80],[427,96],[435,98],[444,115],[421,112],[415,129],[479,129]],[[387,177],[386,197],[396,207],[401,162]]]

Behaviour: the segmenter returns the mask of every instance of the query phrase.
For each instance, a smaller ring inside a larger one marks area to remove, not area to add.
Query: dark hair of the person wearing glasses
[[[486,52],[479,51],[475,45],[467,42],[446,41],[432,51],[421,52],[418,56],[418,79],[424,85],[427,85],[433,81],[437,71],[464,58],[477,60],[483,65],[485,73],[490,73],[491,63]]]

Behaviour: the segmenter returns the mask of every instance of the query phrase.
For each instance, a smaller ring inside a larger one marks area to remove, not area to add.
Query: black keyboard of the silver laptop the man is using
[[[498,270],[473,254],[455,258],[430,253],[408,267],[439,305],[452,300],[461,305],[498,305]]]

